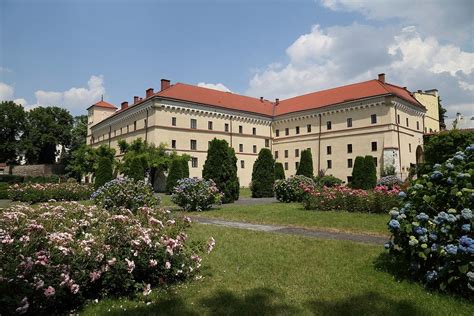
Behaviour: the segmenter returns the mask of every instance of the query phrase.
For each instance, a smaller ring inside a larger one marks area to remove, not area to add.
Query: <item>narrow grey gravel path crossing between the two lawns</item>
[[[351,234],[343,232],[331,232],[326,230],[317,230],[317,229],[306,229],[298,227],[287,227],[287,226],[278,226],[278,225],[263,225],[263,224],[250,224],[244,222],[234,222],[226,221],[214,218],[204,218],[204,217],[191,217],[193,221],[207,224],[207,225],[217,225],[224,227],[248,229],[255,231],[264,231],[272,232],[279,234],[288,234],[296,236],[305,236],[305,237],[314,237],[314,238],[323,238],[323,239],[334,239],[334,240],[348,240],[354,242],[360,242],[371,245],[383,245],[388,237],[382,236],[371,236],[371,235],[361,235],[361,234]]]

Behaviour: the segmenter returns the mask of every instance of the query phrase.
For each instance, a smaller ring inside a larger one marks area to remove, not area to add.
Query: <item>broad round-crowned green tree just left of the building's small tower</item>
[[[26,161],[54,163],[57,146],[67,148],[71,143],[73,118],[59,107],[38,107],[26,115],[26,130],[23,134],[23,149]]]

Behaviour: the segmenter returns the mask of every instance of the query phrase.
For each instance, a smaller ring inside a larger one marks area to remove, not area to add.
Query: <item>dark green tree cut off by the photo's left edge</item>
[[[25,110],[12,101],[0,102],[0,162],[18,163],[20,137],[25,130]]]

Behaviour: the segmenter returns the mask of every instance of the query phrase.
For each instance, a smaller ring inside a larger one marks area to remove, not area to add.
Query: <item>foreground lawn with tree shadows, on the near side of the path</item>
[[[472,315],[474,304],[376,270],[379,246],[194,225],[216,239],[203,276],[148,298],[90,303],[83,315]]]

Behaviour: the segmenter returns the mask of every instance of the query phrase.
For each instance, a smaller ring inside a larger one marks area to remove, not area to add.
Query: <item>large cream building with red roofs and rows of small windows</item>
[[[378,176],[394,166],[405,178],[422,157],[423,131],[439,130],[426,94],[417,98],[385,82],[384,74],[274,102],[162,79],[160,91],[150,88],[120,109],[103,100],[90,106],[88,143],[113,147],[118,156],[121,139],[165,143],[192,157],[190,176],[195,177],[202,175],[208,142],[225,139],[235,149],[241,186],[250,184],[261,148],[274,153],[287,176],[295,174],[301,151],[309,148],[316,171],[345,181],[356,156],[365,155],[374,157]]]

